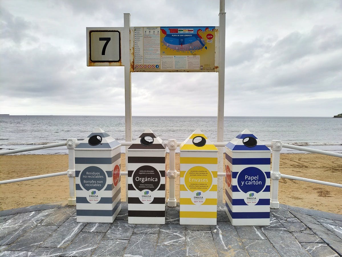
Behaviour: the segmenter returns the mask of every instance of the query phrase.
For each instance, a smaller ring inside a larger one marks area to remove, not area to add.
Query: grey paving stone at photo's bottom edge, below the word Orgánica
[[[134,233],[128,243],[124,256],[154,256],[157,246],[157,234]]]

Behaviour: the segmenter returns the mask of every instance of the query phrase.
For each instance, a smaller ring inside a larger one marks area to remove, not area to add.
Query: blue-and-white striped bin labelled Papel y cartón
[[[271,150],[246,129],[225,146],[225,168],[232,225],[269,225]]]

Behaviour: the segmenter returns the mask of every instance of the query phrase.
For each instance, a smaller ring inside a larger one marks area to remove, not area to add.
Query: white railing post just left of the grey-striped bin
[[[75,147],[77,139],[70,138],[66,141],[66,147],[68,148],[69,155],[69,198],[68,205],[76,205],[76,195],[75,195]]]

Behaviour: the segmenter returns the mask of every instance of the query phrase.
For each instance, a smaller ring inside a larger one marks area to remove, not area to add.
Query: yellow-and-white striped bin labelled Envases
[[[197,129],[180,152],[180,224],[216,225],[218,149]]]

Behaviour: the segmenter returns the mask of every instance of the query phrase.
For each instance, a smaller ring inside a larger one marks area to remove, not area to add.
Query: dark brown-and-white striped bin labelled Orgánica
[[[166,144],[146,129],[127,155],[128,223],[165,224]]]

